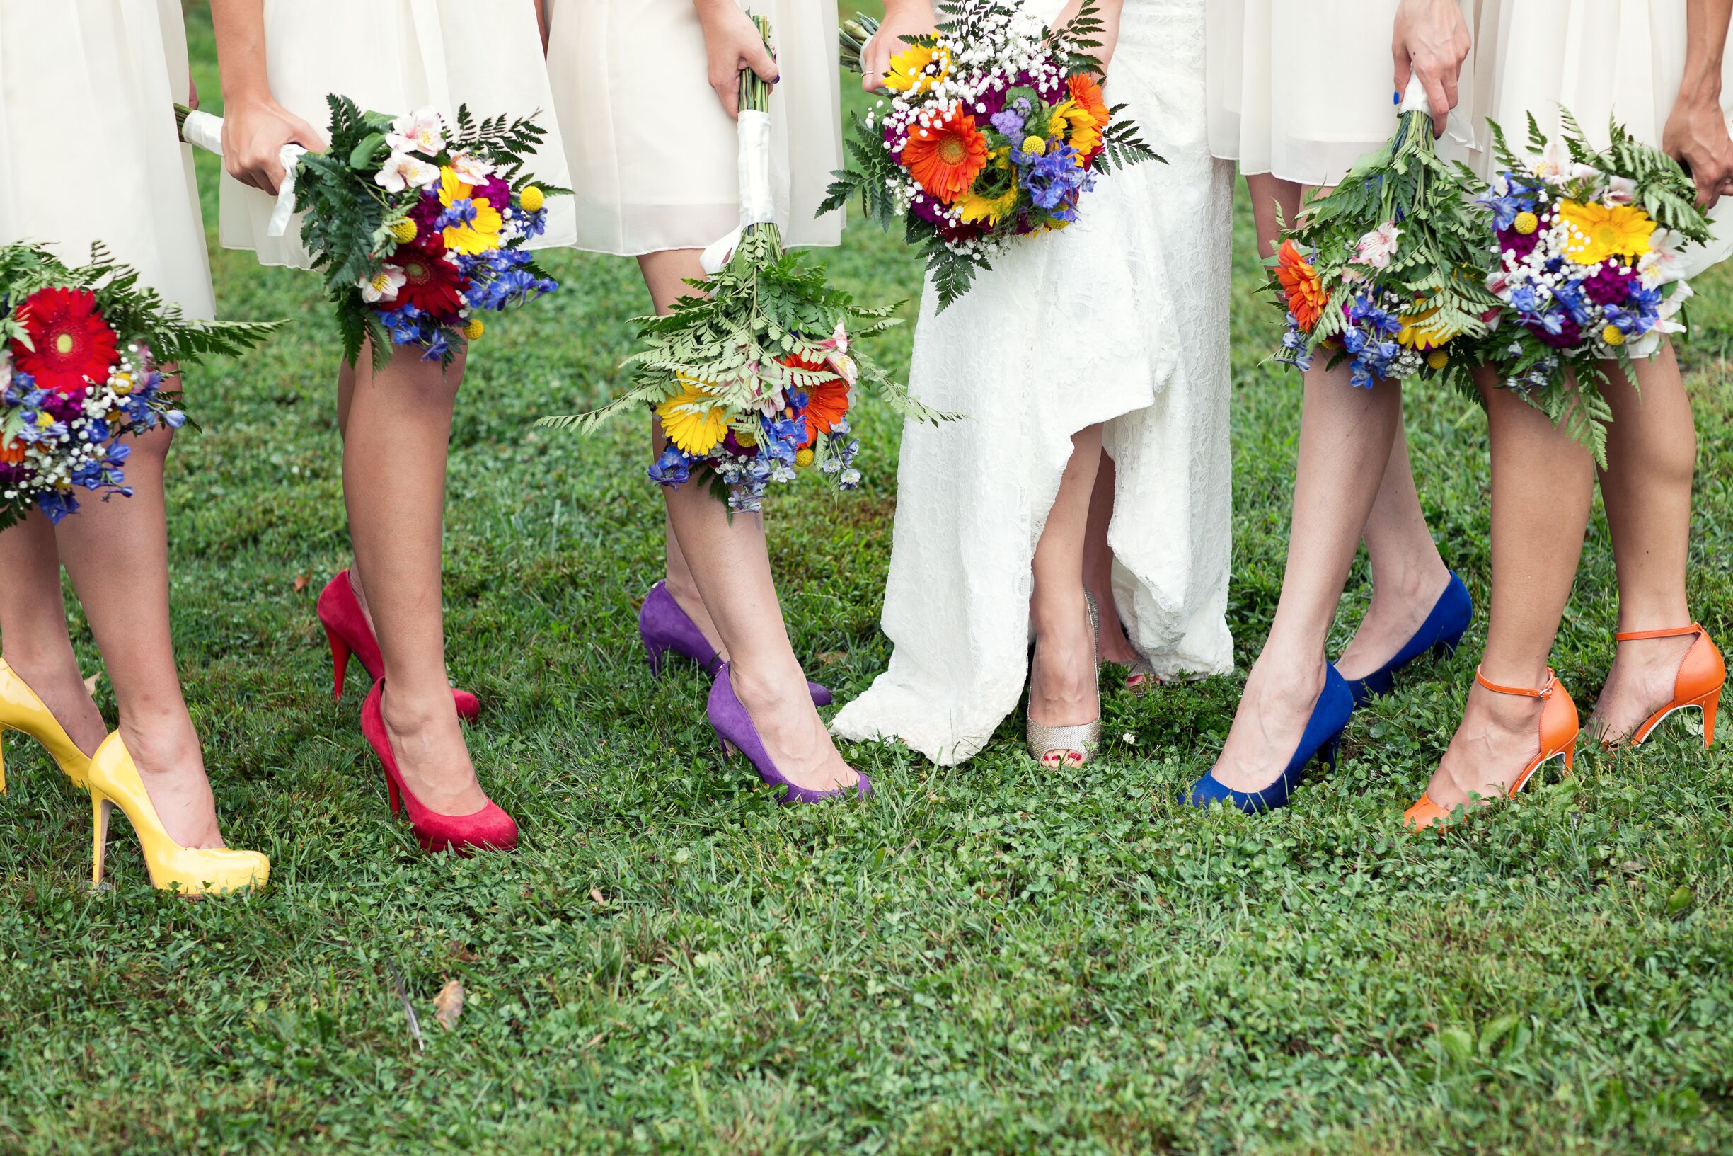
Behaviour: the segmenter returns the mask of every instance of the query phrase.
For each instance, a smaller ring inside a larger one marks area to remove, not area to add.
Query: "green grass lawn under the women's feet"
[[[204,24],[194,54],[215,94]],[[215,166],[199,172],[215,224]],[[1298,386],[1260,364],[1277,319],[1244,213],[1237,241],[1246,664],[1281,582]],[[662,548],[645,432],[530,430],[619,386],[646,303],[633,262],[556,258],[567,288],[473,359],[451,666],[485,702],[471,750],[525,846],[423,856],[388,818],[360,695],[331,702],[314,619],[347,562],[333,326],[305,276],[213,263],[225,315],[293,319],[189,381],[203,433],[180,440],[170,496],[187,695],[225,832],[272,856],[272,882],[246,901],[158,896],[116,823],[113,887],[90,893],[88,804],[12,737],[0,1151],[1733,1147],[1733,709],[1717,754],[1674,721],[1456,837],[1404,835],[1482,614],[1463,653],[1357,716],[1336,775],[1265,818],[1177,806],[1241,676],[1109,693],[1111,742],[1083,771],[1036,768],[1009,719],[955,770],[849,749],[880,785],[865,806],[776,808],[717,756],[705,679],[645,669],[634,607]],[[917,260],[860,227],[832,270],[866,298],[918,289]],[[1733,276],[1700,288],[1691,607],[1733,636]],[[906,364],[908,341],[880,352]],[[1485,423],[1414,390],[1409,430],[1431,525],[1483,603]],[[842,698],[887,659],[896,425],[870,409],[863,433],[861,494],[799,487],[769,513],[797,650]],[[1359,568],[1338,645],[1367,593]],[[1584,707],[1613,593],[1596,518],[1553,655]],[[451,979],[468,1003],[445,1029]]]

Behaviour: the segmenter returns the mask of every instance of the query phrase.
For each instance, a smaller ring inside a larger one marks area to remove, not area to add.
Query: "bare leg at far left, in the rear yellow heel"
[[[95,754],[107,724],[78,672],[66,633],[61,553],[54,527],[40,513],[0,534],[0,574],[5,575],[0,581],[0,655],[36,692],[78,749]]]

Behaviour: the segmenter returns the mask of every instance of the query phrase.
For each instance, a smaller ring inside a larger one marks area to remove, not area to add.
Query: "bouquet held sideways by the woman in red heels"
[[[548,227],[546,198],[523,173],[546,132],[534,118],[458,123],[425,109],[388,118],[328,97],[331,147],[284,151],[272,231],[305,213],[302,241],[336,305],[350,364],[366,340],[383,366],[392,345],[451,362],[503,312],[558,289],[525,246]],[[187,140],[220,153],[222,121],[177,107]],[[189,125],[191,121],[191,125]]]

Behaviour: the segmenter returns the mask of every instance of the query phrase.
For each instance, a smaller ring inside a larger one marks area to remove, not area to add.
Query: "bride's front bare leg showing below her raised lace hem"
[[[1100,466],[1100,426],[1071,437],[1071,461],[1035,546],[1035,664],[1029,671],[1029,719],[1040,726],[1083,726],[1100,718],[1095,645],[1083,600],[1083,537]],[[1111,612],[1113,603],[1107,603]],[[1081,766],[1083,750],[1048,750],[1043,766]]]

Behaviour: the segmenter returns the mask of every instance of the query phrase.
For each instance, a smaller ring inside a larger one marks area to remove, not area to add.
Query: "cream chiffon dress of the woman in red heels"
[[[568,187],[541,29],[530,0],[263,0],[270,92],[324,132],[326,95],[400,116],[435,107],[447,118],[530,116],[548,130],[530,173]],[[308,269],[300,218],[281,237],[267,224],[276,198],[222,179],[222,244],[253,250],[265,265]],[[549,198],[548,232],[529,248],[572,244],[572,198]]]

